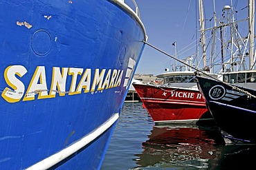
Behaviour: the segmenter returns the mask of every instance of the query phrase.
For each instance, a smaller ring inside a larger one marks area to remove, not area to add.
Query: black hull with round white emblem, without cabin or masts
[[[221,81],[202,76],[199,80],[199,89],[207,100],[207,106],[221,129],[227,144],[244,143],[255,144],[256,99],[244,92],[235,90],[235,85],[227,85]],[[255,89],[240,87],[247,93],[255,95]],[[228,143],[231,142],[231,143]]]

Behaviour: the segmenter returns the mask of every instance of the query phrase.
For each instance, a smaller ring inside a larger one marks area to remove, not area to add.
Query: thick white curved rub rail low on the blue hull
[[[88,145],[91,141],[95,140],[95,138],[98,138],[98,136],[103,134],[104,131],[107,131],[107,129],[109,129],[109,127],[111,127],[111,125],[113,125],[113,123],[115,123],[116,120],[118,120],[118,118],[119,114],[114,114],[104,124],[100,125],[100,127],[92,131],[90,134],[84,136],[81,140],[75,142],[73,145],[63,149],[62,151],[55,153],[54,155],[45,158],[44,160],[37,162],[36,164],[33,164],[31,167],[28,167],[28,170],[48,169],[50,167],[53,167],[53,165],[64,160],[68,156],[71,156],[73,153],[75,153],[75,151],[82,149],[82,147]]]

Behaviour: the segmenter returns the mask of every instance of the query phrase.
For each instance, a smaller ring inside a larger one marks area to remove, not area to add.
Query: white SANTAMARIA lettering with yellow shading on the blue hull
[[[48,88],[46,69],[44,66],[37,66],[28,87],[25,88],[24,83],[20,79],[28,70],[23,65],[10,65],[4,72],[4,79],[10,87],[6,87],[1,96],[8,103],[17,103],[21,98],[23,98],[23,101],[35,100],[36,94],[38,94],[37,99],[55,98],[56,93],[60,96],[65,96],[66,94],[75,95],[81,94],[82,89],[84,89],[84,93],[93,93],[121,85],[123,70],[95,69],[93,77],[92,71],[89,68],[53,67],[51,87]],[[68,76],[71,76],[71,83],[67,83]],[[130,75],[126,75],[126,79],[127,76],[129,77]],[[80,80],[79,77],[81,77]],[[66,85],[70,85],[67,92]],[[125,80],[123,86],[127,86],[127,80]]]

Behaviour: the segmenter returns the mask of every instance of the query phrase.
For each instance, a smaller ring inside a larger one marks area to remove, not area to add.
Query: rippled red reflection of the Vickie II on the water
[[[221,158],[223,139],[214,127],[196,125],[154,126],[143,152],[134,159],[140,167],[215,169]]]

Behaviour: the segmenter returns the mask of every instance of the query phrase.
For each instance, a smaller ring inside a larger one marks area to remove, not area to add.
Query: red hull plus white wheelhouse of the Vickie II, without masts
[[[133,83],[155,123],[199,123],[212,120],[199,92],[194,72],[165,72],[163,83]]]

